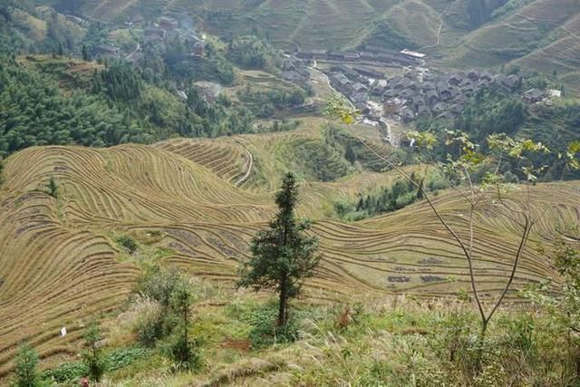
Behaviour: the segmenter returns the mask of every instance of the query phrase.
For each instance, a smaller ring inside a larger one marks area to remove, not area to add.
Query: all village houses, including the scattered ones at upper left
[[[135,16],[126,20],[125,28],[139,30],[144,41],[152,44],[166,44],[168,36],[179,37],[192,59],[206,56],[205,35],[199,34],[189,20],[161,16],[156,23],[146,24],[142,17]],[[133,64],[139,63],[143,55],[140,44],[129,53],[122,53],[113,44],[98,44],[92,49],[95,58],[123,58]],[[517,93],[529,104],[550,103],[550,98],[561,96],[559,90],[522,91],[522,76],[517,73],[493,73],[486,69],[439,73],[430,70],[427,60],[424,53],[388,50],[370,44],[362,46],[360,51],[349,52],[296,50],[285,52],[278,76],[308,89],[313,82],[311,71],[324,73],[329,86],[343,94],[360,112],[360,122],[382,129],[386,133],[383,139],[393,145],[406,141],[392,138],[390,126],[421,118],[455,119],[480,90]],[[207,87],[203,89],[199,92],[208,98],[215,97]],[[183,91],[179,91],[179,97],[187,99]]]

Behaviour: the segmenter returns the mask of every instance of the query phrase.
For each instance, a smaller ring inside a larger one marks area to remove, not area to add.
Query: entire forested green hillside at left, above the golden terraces
[[[92,66],[87,89],[64,91],[52,73],[39,72],[36,63],[58,58],[1,59],[0,150],[4,155],[34,145],[79,144],[111,146],[150,143],[172,136],[216,137],[251,132],[252,114],[227,100],[208,103],[189,90],[182,102],[162,87],[143,81],[123,63]],[[61,62],[69,63],[67,60]],[[77,63],[79,64],[79,63]],[[70,83],[67,83],[71,86]]]

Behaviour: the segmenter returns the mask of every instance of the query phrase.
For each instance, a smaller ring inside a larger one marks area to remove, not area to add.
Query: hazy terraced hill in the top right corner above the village
[[[449,48],[445,63],[457,67],[510,63],[556,71],[564,78],[580,64],[579,24],[580,4],[575,0],[536,0],[467,34],[456,48]]]

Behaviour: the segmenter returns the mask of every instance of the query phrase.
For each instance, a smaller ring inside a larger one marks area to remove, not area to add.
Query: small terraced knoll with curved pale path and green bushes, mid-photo
[[[384,156],[393,156],[395,150],[375,137],[365,136],[372,148]],[[295,131],[249,134],[208,139],[177,139],[154,144],[155,148],[169,150],[186,159],[211,169],[221,179],[238,188],[267,193],[277,189],[283,173],[290,169],[307,181],[320,181],[324,177],[345,181],[343,187],[350,196],[364,192],[381,183],[380,174],[362,174],[352,177],[359,170],[343,158],[340,146],[328,143],[328,130],[319,117],[300,118]],[[353,140],[353,139],[351,139]],[[379,171],[384,168],[372,153],[361,146],[356,149],[366,169]],[[320,162],[318,162],[319,160]],[[356,179],[360,184],[349,185]],[[368,181],[364,183],[364,181]]]

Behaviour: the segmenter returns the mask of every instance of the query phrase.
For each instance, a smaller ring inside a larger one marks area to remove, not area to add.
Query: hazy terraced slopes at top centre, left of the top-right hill
[[[453,2],[451,8],[455,3],[460,1]],[[82,9],[88,17],[104,22],[122,21],[144,12],[150,13],[145,16],[164,14],[178,19],[191,15],[213,34],[226,30],[247,34],[256,26],[268,30],[275,44],[287,48],[297,44],[303,49],[336,49],[360,44],[372,33],[370,26],[385,18],[401,28],[401,34],[408,35],[411,42],[432,43],[436,38],[431,33],[437,30],[437,15],[446,5],[441,0],[85,0]],[[462,9],[457,14],[458,18],[466,17]]]

